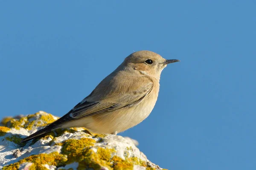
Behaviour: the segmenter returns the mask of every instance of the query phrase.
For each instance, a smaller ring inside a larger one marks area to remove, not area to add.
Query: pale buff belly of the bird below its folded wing
[[[122,132],[146,119],[153,110],[155,102],[156,100],[143,101],[136,106],[92,116],[93,119],[86,127],[95,133]]]

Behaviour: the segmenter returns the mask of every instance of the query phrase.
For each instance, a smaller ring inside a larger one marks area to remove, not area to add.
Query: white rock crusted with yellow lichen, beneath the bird
[[[162,170],[140,152],[136,140],[91,134],[82,127],[57,129],[21,143],[23,138],[56,119],[43,111],[4,118],[0,126],[0,169]]]

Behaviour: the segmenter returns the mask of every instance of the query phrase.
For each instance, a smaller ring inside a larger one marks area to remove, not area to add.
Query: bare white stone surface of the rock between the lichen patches
[[[45,112],[38,112],[37,116],[35,116],[35,119],[29,119],[29,121],[35,120],[39,121],[38,115],[44,115],[48,114]],[[54,119],[56,117],[54,116]],[[88,135],[84,131],[79,131],[82,129],[79,129],[78,131],[75,131],[74,133],[70,132],[64,132],[58,137],[54,138],[54,141],[52,141],[52,138],[41,138],[35,143],[32,143],[32,141],[29,141],[26,143],[25,146],[20,147],[19,144],[15,144],[14,142],[11,142],[6,139],[8,136],[12,135],[18,135],[22,138],[28,136],[29,134],[34,133],[36,130],[41,129],[42,127],[35,127],[32,130],[27,130],[26,128],[20,127],[20,129],[11,128],[4,136],[0,136],[0,169],[3,168],[6,165],[14,164],[15,162],[18,162],[28,156],[31,155],[38,155],[40,153],[52,153],[52,152],[58,152],[61,153],[61,148],[63,146],[55,145],[56,143],[61,143],[66,141],[67,139],[81,139],[81,138],[89,138],[96,140],[96,143],[94,146],[90,147],[94,152],[97,152],[99,147],[102,148],[114,148],[116,152],[112,156],[118,156],[125,160],[126,158],[130,157],[137,157],[141,161],[145,161],[145,164],[147,167],[153,167],[155,169],[162,169],[158,165],[153,164],[151,161],[149,161],[146,156],[140,152],[140,150],[135,146],[135,144],[138,144],[136,140],[130,139],[130,138],[124,138],[122,136],[116,136],[116,135],[104,135],[104,137],[97,137],[93,135]],[[19,151],[18,151],[19,150]],[[19,169],[25,170],[28,169],[30,166],[32,166],[33,163],[31,162],[25,162],[23,164],[20,164]],[[56,170],[56,169],[66,169],[73,168],[73,170],[76,170],[79,166],[78,162],[73,162],[70,164],[66,164],[62,167],[56,167],[54,165],[44,164],[44,167],[46,167],[49,170]],[[133,166],[134,170],[145,170],[146,167],[136,165]],[[102,167],[102,169],[108,169],[107,167]]]

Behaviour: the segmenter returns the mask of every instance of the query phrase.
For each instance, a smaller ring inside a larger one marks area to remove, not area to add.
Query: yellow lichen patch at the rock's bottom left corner
[[[41,153],[38,155],[26,157],[14,164],[7,165],[3,167],[3,170],[18,170],[20,164],[23,164],[24,162],[33,163],[32,166],[29,167],[29,170],[47,170],[47,168],[43,166],[44,164],[61,167],[65,165],[66,161],[67,157],[65,155],[59,154],[58,152],[52,152],[49,154]]]

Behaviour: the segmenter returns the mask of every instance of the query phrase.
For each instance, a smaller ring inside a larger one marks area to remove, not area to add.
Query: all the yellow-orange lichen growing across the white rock
[[[5,135],[10,128],[14,127],[16,129],[23,127],[26,129],[32,129],[39,126],[47,125],[51,122],[55,121],[54,117],[48,113],[35,113],[20,119],[5,119],[4,124],[7,127],[0,127],[0,135]],[[3,124],[3,123],[2,123]],[[61,146],[61,153],[50,153],[50,154],[38,154],[29,156],[25,159],[22,159],[14,164],[3,167],[3,170],[17,170],[20,164],[24,162],[32,162],[32,166],[29,169],[32,170],[44,170],[44,164],[55,165],[56,167],[65,166],[66,164],[70,164],[73,162],[78,162],[78,170],[84,170],[88,168],[92,168],[94,170],[100,170],[102,167],[106,167],[109,170],[132,170],[134,165],[146,166],[145,161],[137,157],[129,157],[129,150],[132,150],[132,147],[127,147],[125,150],[125,159],[121,159],[115,155],[115,149],[103,148],[94,146],[97,142],[102,142],[105,134],[94,134],[93,138],[81,138],[81,139],[68,139],[64,142],[55,143],[55,137],[61,136],[63,133],[75,133],[76,128],[74,129],[57,129],[52,132],[46,133],[43,139],[52,139],[49,145],[58,145]],[[83,130],[83,132],[87,133],[89,136],[90,132],[88,130]],[[90,134],[91,135],[91,134]],[[83,135],[81,135],[83,136]],[[42,138],[42,137],[41,137]],[[18,135],[12,135],[6,137],[7,140],[12,141],[16,144],[20,144],[21,138]],[[36,142],[38,139],[34,139],[32,144]],[[94,150],[97,149],[95,152]],[[148,168],[147,170],[153,170],[154,168]],[[71,170],[71,169],[70,169]]]

